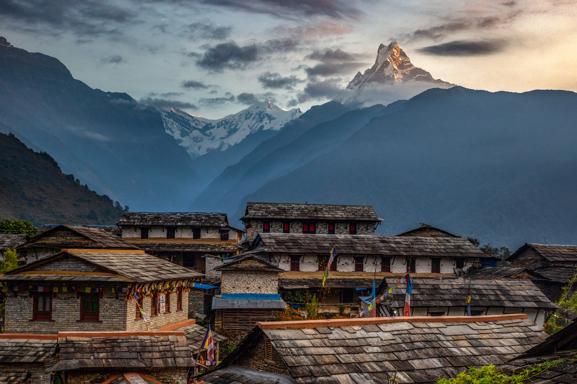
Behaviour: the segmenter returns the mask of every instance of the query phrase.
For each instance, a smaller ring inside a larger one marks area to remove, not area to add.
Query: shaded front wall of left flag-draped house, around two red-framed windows
[[[6,295],[5,332],[10,333],[57,333],[81,330],[126,330],[126,302],[124,296],[103,293],[100,298],[100,322],[80,321],[80,300],[76,292],[53,293],[53,321],[32,320],[32,296],[28,292],[12,292]]]

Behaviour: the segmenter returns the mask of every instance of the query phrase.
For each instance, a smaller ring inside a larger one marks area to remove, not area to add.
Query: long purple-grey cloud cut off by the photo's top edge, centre
[[[361,14],[351,5],[352,2],[342,0],[199,0],[198,2],[250,13],[266,13],[279,18],[328,16],[344,19]]]

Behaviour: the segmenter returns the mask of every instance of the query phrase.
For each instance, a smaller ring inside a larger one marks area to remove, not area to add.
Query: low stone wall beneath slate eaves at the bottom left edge
[[[99,384],[113,375],[136,372],[148,375],[164,384],[186,384],[186,367],[170,368],[106,368],[68,371],[66,384]],[[50,382],[50,375],[48,375]]]

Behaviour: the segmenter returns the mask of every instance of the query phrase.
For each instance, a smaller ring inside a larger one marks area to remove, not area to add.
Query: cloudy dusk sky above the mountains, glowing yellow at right
[[[0,35],[92,88],[215,119],[331,100],[392,40],[452,84],[577,91],[576,16],[572,0],[0,0]]]

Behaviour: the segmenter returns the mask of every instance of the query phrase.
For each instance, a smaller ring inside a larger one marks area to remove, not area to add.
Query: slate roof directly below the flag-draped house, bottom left
[[[157,332],[158,336],[58,337],[59,361],[50,371],[81,368],[127,367],[190,367],[190,355],[185,336],[175,332]],[[73,334],[73,333],[69,333]]]

